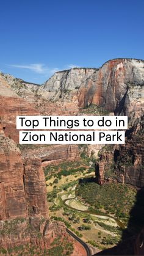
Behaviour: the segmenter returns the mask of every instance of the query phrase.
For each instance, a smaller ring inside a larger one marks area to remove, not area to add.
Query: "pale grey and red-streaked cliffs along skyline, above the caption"
[[[77,114],[77,107],[93,103],[111,113],[128,115],[129,126],[137,126],[135,130],[139,130],[143,122],[143,67],[143,60],[114,59],[99,69],[72,68],[56,72],[42,86],[10,76],[1,79],[9,86],[6,95],[14,93],[24,98],[41,114]]]

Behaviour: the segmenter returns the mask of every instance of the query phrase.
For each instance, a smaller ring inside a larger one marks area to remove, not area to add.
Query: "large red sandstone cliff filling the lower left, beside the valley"
[[[57,236],[73,243],[65,225],[48,218],[41,159],[22,159],[15,142],[0,131],[0,247],[29,244],[48,249]]]

